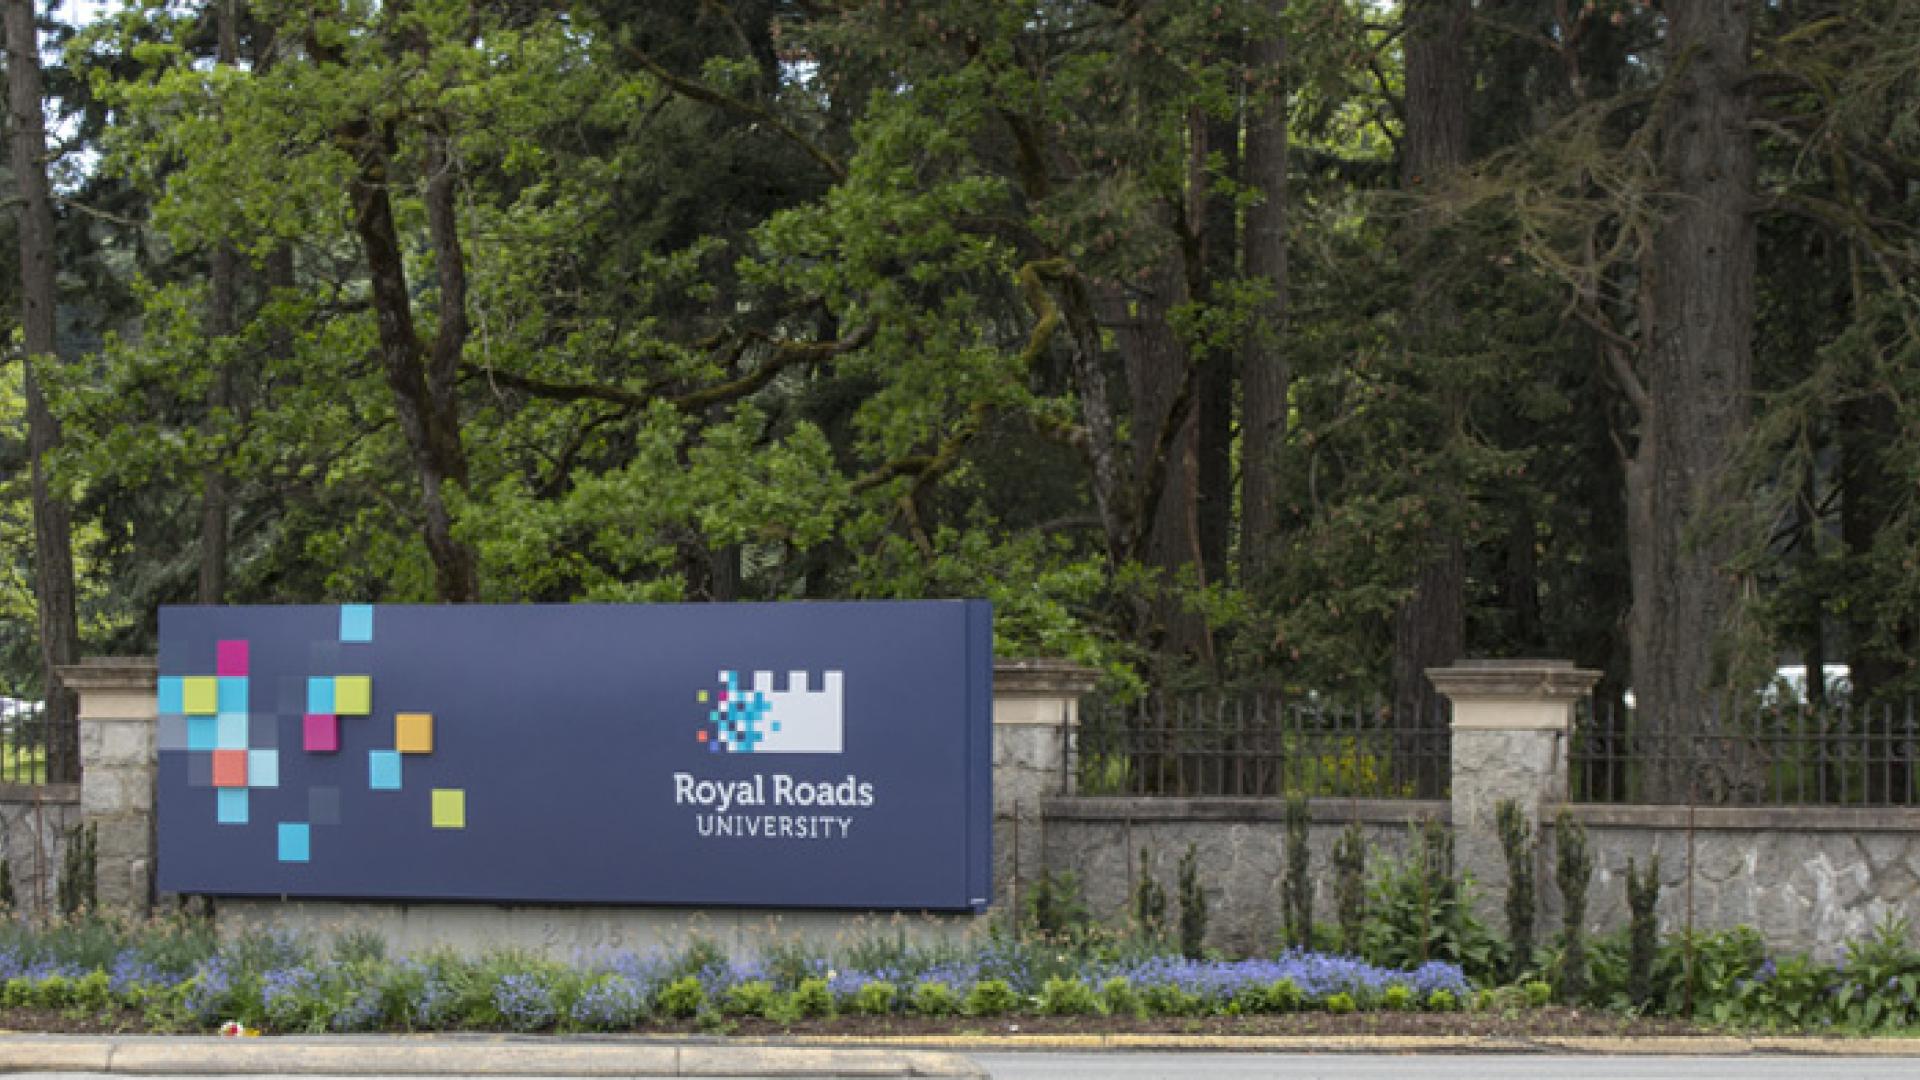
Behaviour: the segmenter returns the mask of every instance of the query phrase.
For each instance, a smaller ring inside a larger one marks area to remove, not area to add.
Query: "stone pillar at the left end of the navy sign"
[[[146,657],[60,669],[81,696],[81,822],[98,830],[100,907],[134,917],[154,905],[156,675]]]

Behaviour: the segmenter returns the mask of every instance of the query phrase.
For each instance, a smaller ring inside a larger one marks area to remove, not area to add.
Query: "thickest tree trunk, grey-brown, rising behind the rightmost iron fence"
[[[1642,452],[1651,530],[1636,538],[1632,651],[1640,728],[1678,736],[1674,749],[1738,782],[1740,763],[1713,753],[1720,682],[1716,646],[1736,594],[1726,571],[1738,538],[1715,509],[1728,461],[1747,429],[1753,365],[1755,233],[1747,0],[1668,6],[1670,104],[1661,167],[1670,213],[1647,256],[1653,307],[1647,348],[1651,417]],[[1734,773],[1728,773],[1732,769]],[[1699,776],[1668,759],[1655,771],[1668,798]]]

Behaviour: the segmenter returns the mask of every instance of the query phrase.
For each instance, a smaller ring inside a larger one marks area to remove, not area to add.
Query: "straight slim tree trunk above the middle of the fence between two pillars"
[[[1240,356],[1240,580],[1260,586],[1273,571],[1281,532],[1279,454],[1286,442],[1286,37],[1279,27],[1250,48],[1254,100],[1246,121],[1246,277],[1267,286]]]

